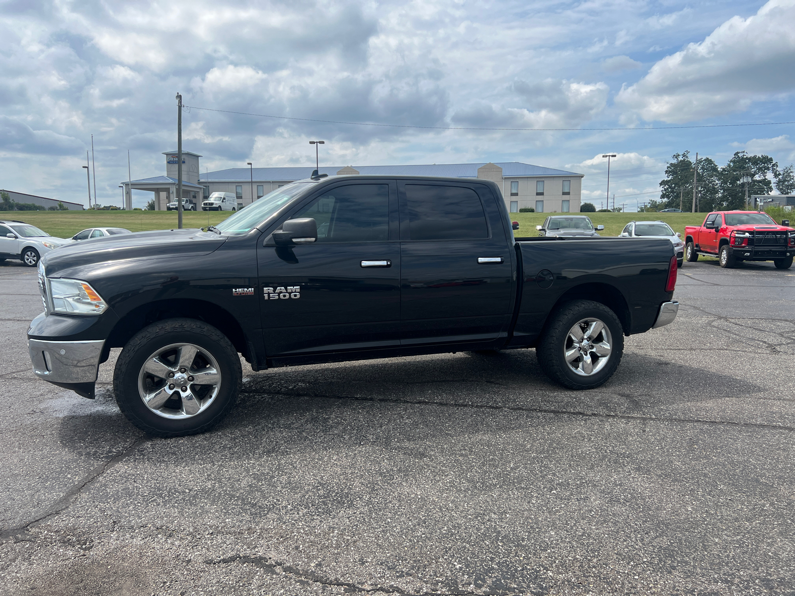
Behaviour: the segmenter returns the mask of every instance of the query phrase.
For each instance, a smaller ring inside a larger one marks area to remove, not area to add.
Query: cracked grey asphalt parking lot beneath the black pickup
[[[151,439],[115,354],[96,401],[33,376],[0,263],[0,593],[795,594],[795,268],[676,297],[593,391],[533,350],[244,366],[219,428]]]

